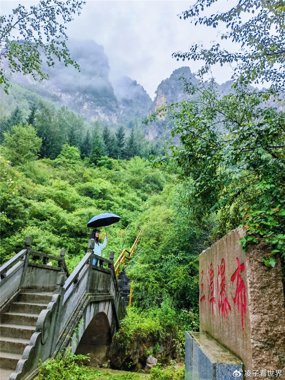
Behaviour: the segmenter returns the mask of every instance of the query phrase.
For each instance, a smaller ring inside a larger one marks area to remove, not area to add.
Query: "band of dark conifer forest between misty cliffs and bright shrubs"
[[[18,123],[32,124],[42,139],[40,157],[54,159],[63,144],[78,147],[81,158],[89,157],[97,163],[100,157],[131,158],[135,155],[148,158],[158,154],[161,144],[147,141],[138,118],[129,119],[128,124],[108,125],[107,121],[92,122],[67,106],[56,106],[52,101],[13,84],[9,95],[3,96],[1,139]]]

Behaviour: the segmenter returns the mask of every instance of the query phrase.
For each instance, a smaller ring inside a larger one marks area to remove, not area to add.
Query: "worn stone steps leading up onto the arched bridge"
[[[46,309],[53,293],[20,293],[10,304],[9,310],[1,313],[0,323],[0,378],[8,380],[22,358],[25,347],[35,332],[41,310]]]

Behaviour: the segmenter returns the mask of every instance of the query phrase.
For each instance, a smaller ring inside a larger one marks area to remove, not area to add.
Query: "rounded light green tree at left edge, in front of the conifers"
[[[5,156],[13,165],[25,164],[38,157],[42,140],[36,135],[36,129],[30,124],[19,123],[4,132]]]

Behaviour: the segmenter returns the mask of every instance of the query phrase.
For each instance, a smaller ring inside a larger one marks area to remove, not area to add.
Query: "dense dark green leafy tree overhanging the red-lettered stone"
[[[185,89],[193,92],[190,84]],[[263,105],[269,97],[270,92],[238,86],[221,97],[208,87],[197,101],[160,110],[173,120],[172,135],[180,135],[181,146],[169,149],[194,220],[203,225],[203,217],[216,213],[218,237],[240,224],[246,230],[244,249],[248,241],[257,242],[254,234],[263,236],[272,245],[268,260],[285,238],[285,113]]]

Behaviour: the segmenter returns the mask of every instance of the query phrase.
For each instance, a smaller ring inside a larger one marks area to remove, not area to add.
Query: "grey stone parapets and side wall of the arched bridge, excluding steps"
[[[8,315],[13,314],[12,309],[10,310],[11,305],[17,308],[27,306],[38,310],[38,318],[36,320],[34,316],[35,321],[32,322],[35,327],[29,329],[32,336],[29,336],[29,343],[24,352],[22,351],[22,358],[17,365],[13,364],[16,370],[10,375],[10,380],[32,378],[37,370],[39,359],[44,361],[51,356],[56,356],[66,347],[72,346],[74,351],[77,344],[74,344],[73,332],[78,328],[78,324],[80,332],[77,342],[92,318],[98,313],[105,313],[112,335],[119,328],[119,322],[125,315],[124,301],[120,296],[114,271],[113,252],[110,252],[109,259],[95,255],[94,241],[90,240],[86,255],[70,275],[64,260],[64,249],[61,250],[60,257],[46,255],[32,251],[31,241],[32,238],[27,237],[25,248],[0,268],[0,311],[6,314],[6,319]],[[98,259],[99,266],[92,265],[93,258]],[[47,261],[52,261],[52,263],[47,265]],[[52,300],[49,304],[46,303],[46,306],[40,304],[44,301],[36,301],[36,299],[47,299],[51,296]],[[27,304],[27,302],[22,302],[23,298],[35,299],[35,301]],[[41,307],[43,310],[40,311]],[[17,317],[15,315],[13,315],[14,319]],[[9,336],[8,332],[7,342],[10,337],[21,341],[23,329],[18,329],[18,331],[17,324],[23,323],[18,322],[13,320],[16,325],[14,327],[16,336]],[[12,331],[13,325],[9,328]],[[4,329],[7,329],[7,326]]]

